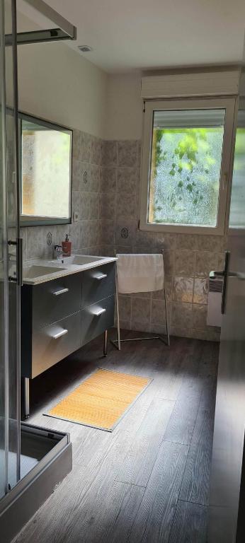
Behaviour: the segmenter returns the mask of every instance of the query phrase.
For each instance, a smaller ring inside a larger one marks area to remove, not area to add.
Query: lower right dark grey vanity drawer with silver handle
[[[114,296],[94,303],[81,311],[81,344],[102,334],[114,324]]]

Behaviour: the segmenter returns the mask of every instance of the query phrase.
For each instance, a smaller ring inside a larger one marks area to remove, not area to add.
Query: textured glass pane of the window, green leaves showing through
[[[154,111],[149,223],[217,226],[225,110]]]

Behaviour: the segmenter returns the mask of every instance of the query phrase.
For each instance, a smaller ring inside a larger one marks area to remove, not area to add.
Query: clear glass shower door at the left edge
[[[20,479],[21,241],[15,28],[15,0],[0,0],[0,498]],[[6,35],[11,36],[8,47]]]

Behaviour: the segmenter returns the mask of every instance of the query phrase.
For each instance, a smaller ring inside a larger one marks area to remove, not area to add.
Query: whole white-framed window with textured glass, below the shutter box
[[[140,228],[223,233],[234,99],[147,102]]]

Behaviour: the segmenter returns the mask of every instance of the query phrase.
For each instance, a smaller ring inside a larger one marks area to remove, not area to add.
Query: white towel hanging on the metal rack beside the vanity
[[[116,255],[118,292],[161,291],[164,288],[163,255]]]

